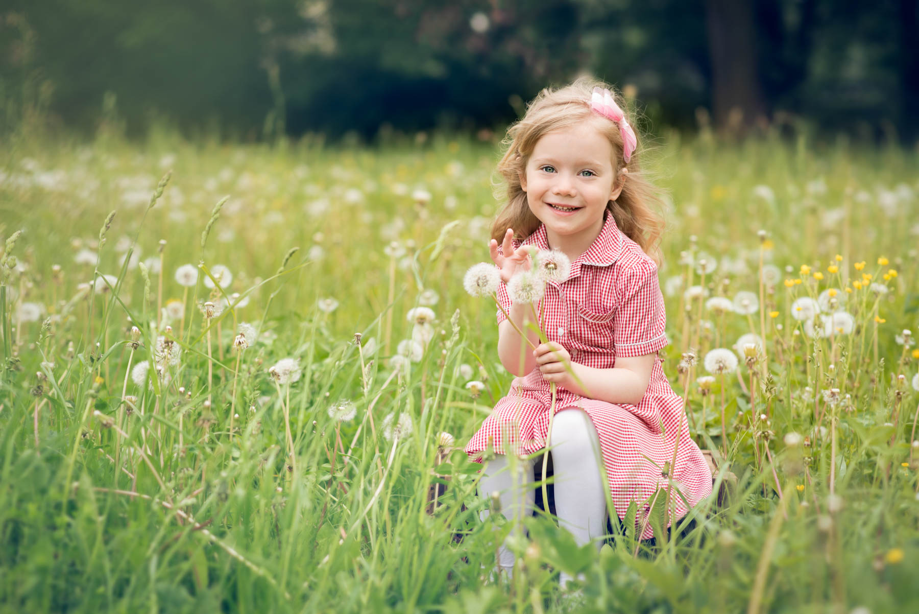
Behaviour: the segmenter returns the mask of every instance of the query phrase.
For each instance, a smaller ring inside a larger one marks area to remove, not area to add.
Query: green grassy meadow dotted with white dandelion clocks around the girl
[[[462,452],[512,379],[462,284],[498,155],[8,140],[0,611],[919,609],[917,153],[653,144],[664,371],[725,498],[599,554],[529,518],[510,583]]]

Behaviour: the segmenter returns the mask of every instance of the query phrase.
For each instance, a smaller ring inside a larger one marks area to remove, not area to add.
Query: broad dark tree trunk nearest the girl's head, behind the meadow
[[[756,70],[750,0],[706,0],[712,111],[720,131],[743,132],[766,115]]]

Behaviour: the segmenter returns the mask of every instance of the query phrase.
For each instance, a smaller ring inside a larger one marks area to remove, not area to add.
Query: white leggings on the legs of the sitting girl
[[[600,440],[590,417],[580,409],[566,409],[552,420],[550,437],[552,469],[554,474],[555,513],[559,525],[572,532],[579,546],[606,534],[607,505],[603,478],[600,475]],[[538,464],[541,466],[541,458]],[[521,462],[523,471],[514,479],[504,455],[498,455],[482,467],[479,495],[489,497],[495,491],[501,500],[501,513],[515,521],[511,536],[516,535],[516,520],[533,513],[536,506],[536,491],[529,487],[533,482],[533,465]],[[520,485],[523,486],[521,505]],[[548,507],[548,502],[543,504]],[[480,517],[488,517],[489,510],[483,509]],[[596,548],[602,546],[596,540]],[[514,567],[514,553],[505,544],[498,549],[499,565],[508,575]],[[571,576],[561,574],[562,587]]]

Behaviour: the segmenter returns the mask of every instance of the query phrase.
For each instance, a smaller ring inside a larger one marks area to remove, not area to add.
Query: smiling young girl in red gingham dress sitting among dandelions
[[[651,508],[647,500],[669,487],[662,468],[673,460],[679,433],[671,474],[690,506],[697,505],[711,494],[711,472],[657,356],[668,343],[656,259],[663,222],[650,207],[656,198],[641,176],[641,146],[629,121],[605,84],[581,78],[543,90],[505,143],[498,170],[507,203],[489,247],[502,279],[498,300],[537,347],[498,311],[498,356],[516,379],[465,449],[476,462],[484,450],[494,451],[482,467],[480,494],[497,492],[505,517],[532,514],[532,465],[515,478],[506,454],[530,455],[545,448],[550,435],[556,514],[577,543],[606,534],[604,488],[619,518],[636,501],[640,529]],[[505,284],[530,267],[531,247],[568,256],[568,278],[547,282],[538,305],[512,303]],[[526,326],[534,308],[548,343]],[[671,498],[675,517],[684,516],[683,499]],[[487,516],[483,511],[482,519]],[[652,537],[647,522],[641,539]],[[601,545],[596,540],[597,549]],[[499,564],[510,574],[514,555],[505,546]],[[562,586],[570,579],[562,574]]]

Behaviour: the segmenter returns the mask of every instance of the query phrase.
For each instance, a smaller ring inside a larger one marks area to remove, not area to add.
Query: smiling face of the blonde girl
[[[546,224],[550,244],[586,249],[599,235],[607,202],[622,191],[613,155],[612,143],[590,120],[539,138],[520,185],[529,210]]]

